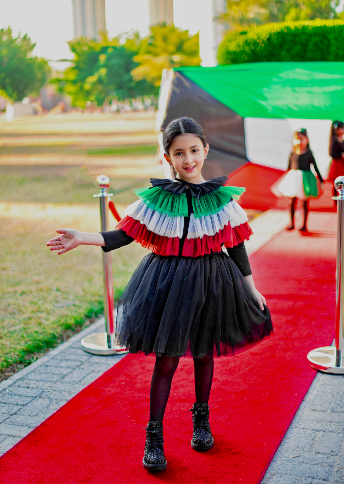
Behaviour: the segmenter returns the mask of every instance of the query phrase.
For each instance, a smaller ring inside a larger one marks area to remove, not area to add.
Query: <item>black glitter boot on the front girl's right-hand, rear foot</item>
[[[193,424],[191,447],[194,451],[208,451],[214,445],[209,424],[209,405],[194,403],[190,410],[192,410]]]

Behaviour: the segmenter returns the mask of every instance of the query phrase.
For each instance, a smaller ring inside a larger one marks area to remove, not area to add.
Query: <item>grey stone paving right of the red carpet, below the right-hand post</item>
[[[344,483],[344,376],[317,373],[262,484]]]

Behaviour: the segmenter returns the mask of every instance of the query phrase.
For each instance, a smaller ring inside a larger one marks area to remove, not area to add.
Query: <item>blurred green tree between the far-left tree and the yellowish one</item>
[[[156,94],[156,88],[146,80],[136,81],[130,72],[138,65],[133,61],[140,48],[138,33],[100,42],[80,38],[68,42],[74,54],[73,66],[62,77],[52,79],[58,91],[68,94],[72,104],[84,108],[87,101],[102,105],[106,99],[124,100]]]

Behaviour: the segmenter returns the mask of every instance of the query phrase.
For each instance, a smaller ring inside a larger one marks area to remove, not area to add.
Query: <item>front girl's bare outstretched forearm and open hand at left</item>
[[[50,247],[50,250],[58,250],[59,255],[75,249],[78,245],[105,247],[104,237],[100,233],[79,232],[73,228],[59,228],[56,232],[61,235],[51,239],[47,246]]]

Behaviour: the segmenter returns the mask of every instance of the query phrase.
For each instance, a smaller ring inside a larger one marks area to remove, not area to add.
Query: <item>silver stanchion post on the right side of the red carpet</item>
[[[307,355],[312,368],[325,373],[344,375],[344,177],[334,181],[337,197],[337,272],[336,272],[336,328],[335,346],[325,346],[310,351]]]

